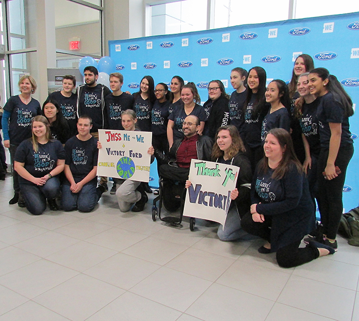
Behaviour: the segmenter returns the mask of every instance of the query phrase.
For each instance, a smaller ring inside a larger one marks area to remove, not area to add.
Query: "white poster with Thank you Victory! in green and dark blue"
[[[235,188],[240,168],[237,166],[191,160],[183,215],[225,225],[231,190]]]

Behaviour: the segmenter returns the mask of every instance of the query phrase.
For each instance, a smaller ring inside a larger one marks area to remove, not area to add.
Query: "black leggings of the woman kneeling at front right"
[[[254,222],[251,213],[247,213],[242,221],[242,228],[255,236],[261,237],[270,242],[270,226],[272,220],[270,216],[265,217],[263,223]],[[295,236],[293,237],[295,238]],[[312,247],[299,247],[302,239],[295,240],[294,242],[279,248],[276,252],[276,260],[279,266],[284,268],[291,268],[304,263],[313,261],[319,256],[319,251]]]

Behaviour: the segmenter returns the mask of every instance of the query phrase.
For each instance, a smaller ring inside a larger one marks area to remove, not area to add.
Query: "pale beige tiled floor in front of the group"
[[[0,321],[359,321],[359,248],[282,269],[263,241],[225,243],[217,226],[122,213],[34,217],[0,182]],[[152,199],[150,197],[150,199]]]

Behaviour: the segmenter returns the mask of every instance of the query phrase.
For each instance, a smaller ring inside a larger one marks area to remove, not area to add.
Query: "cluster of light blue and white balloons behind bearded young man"
[[[98,60],[98,63],[92,57],[84,57],[78,63],[78,70],[84,76],[84,69],[93,66],[98,70],[98,83],[102,83],[110,88],[109,75],[116,71],[115,63],[111,57],[105,56]]]

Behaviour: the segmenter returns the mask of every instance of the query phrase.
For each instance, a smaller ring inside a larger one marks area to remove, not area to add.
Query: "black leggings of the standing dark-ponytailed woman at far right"
[[[335,240],[343,212],[343,186],[345,174],[347,172],[349,161],[353,156],[354,148],[352,144],[339,148],[338,155],[335,159],[335,165],[341,169],[342,173],[330,181],[324,179],[322,174],[327,166],[328,153],[328,148],[322,148],[321,153],[319,154],[316,200],[321,213],[323,234],[326,235],[328,239]]]

